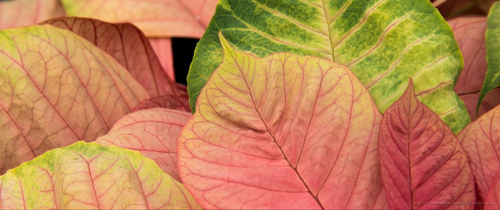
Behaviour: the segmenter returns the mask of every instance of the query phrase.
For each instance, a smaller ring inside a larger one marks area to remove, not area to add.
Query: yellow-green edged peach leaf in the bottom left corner
[[[136,151],[95,142],[50,150],[0,176],[1,209],[198,209]]]

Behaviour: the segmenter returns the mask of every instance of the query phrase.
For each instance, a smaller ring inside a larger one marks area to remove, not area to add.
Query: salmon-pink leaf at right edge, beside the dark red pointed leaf
[[[481,115],[458,134],[474,173],[477,199],[484,200],[500,170],[500,106]]]

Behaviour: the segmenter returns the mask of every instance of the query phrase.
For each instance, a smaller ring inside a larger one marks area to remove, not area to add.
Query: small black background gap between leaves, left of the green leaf
[[[173,69],[177,83],[187,84],[187,72],[198,41],[195,38],[172,38]]]

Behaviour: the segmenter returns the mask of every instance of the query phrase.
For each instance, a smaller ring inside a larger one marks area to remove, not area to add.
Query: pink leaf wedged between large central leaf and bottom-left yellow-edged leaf
[[[180,181],[177,172],[177,136],[190,112],[167,108],[135,111],[118,120],[95,142],[139,151]]]

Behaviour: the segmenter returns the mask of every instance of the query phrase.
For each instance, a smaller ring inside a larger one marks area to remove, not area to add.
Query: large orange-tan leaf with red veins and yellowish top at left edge
[[[92,141],[148,98],[116,60],[51,25],[0,30],[0,173]]]

